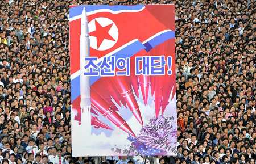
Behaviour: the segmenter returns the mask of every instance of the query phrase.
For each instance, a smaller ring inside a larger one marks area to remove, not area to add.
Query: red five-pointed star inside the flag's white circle
[[[109,24],[108,26],[102,27],[101,24],[98,23],[97,20],[95,20],[95,26],[96,30],[90,32],[89,35],[97,37],[97,48],[100,47],[104,39],[115,41],[114,38],[111,35],[109,35],[109,30],[113,26],[113,23]]]

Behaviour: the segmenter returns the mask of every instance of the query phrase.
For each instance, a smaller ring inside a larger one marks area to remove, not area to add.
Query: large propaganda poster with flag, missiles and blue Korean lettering
[[[176,155],[174,5],[69,14],[72,155]]]

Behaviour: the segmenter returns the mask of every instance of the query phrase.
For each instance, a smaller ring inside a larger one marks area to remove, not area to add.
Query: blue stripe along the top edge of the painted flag
[[[109,9],[112,11],[119,11],[119,10],[140,10],[144,5],[79,5],[76,7],[69,8],[69,18],[72,18],[77,15],[82,14],[82,9],[84,9],[86,12],[94,11],[94,10],[100,10],[100,9]]]

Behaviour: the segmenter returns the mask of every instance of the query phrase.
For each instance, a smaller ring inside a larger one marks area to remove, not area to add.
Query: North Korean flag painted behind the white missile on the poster
[[[174,5],[70,6],[71,101],[78,112],[76,120],[80,117],[78,72],[80,24],[84,7],[89,22],[90,56],[115,56],[116,59],[132,57],[143,49],[148,52],[164,41],[175,38]],[[91,78],[91,85],[98,79],[100,77]]]

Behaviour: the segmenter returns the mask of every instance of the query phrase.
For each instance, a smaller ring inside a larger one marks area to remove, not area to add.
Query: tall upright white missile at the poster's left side
[[[85,68],[86,65],[85,57],[90,56],[90,40],[88,33],[88,20],[86,16],[85,7],[82,10],[81,17],[81,35],[80,35],[80,107],[81,112],[89,112],[90,115],[90,77],[86,76]],[[90,116],[89,120],[90,120]]]

